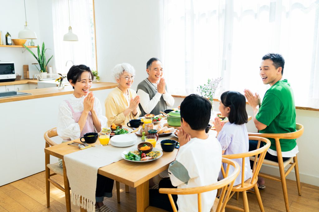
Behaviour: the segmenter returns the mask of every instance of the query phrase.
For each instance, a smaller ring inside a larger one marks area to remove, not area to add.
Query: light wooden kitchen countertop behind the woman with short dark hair
[[[115,88],[117,85],[118,83],[113,83],[113,82],[94,82],[92,84],[92,87],[90,88],[90,91]],[[40,89],[33,89],[33,90],[22,90],[20,92],[32,93],[32,95],[2,98],[0,99],[0,103],[72,94],[73,88],[72,86],[65,86],[64,89],[58,89],[57,87],[53,87],[53,88],[40,88]]]

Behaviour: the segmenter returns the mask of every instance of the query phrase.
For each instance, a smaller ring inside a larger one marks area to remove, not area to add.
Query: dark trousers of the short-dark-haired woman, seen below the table
[[[103,201],[104,197],[112,197],[114,180],[98,174],[96,179],[95,199],[96,201]]]

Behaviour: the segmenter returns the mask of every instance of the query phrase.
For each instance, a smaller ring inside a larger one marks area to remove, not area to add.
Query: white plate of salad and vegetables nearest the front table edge
[[[149,152],[147,154],[139,152],[137,150],[130,150],[130,151],[124,151],[122,152],[122,158],[124,160],[129,160],[132,162],[138,162],[138,163],[144,163],[153,161],[156,159],[159,159],[162,157],[163,152],[160,149],[153,148],[152,152]]]

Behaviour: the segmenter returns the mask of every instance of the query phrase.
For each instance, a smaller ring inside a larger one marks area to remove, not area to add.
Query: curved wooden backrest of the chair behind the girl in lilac
[[[253,165],[253,176],[251,177],[250,183],[255,183],[258,180],[258,173],[261,169],[261,166],[263,164],[263,159],[266,156],[266,152],[269,149],[271,142],[268,138],[262,138],[257,136],[249,136],[249,140],[255,140],[258,141],[257,149],[250,151],[250,152],[244,152],[240,154],[232,154],[232,155],[223,155],[223,158],[228,159],[242,159],[242,166],[241,166],[241,187],[244,187],[244,174],[245,174],[245,159],[247,157],[255,156],[254,165]],[[264,142],[264,146],[260,147],[260,142]],[[257,157],[260,154],[259,158]],[[223,175],[225,174],[222,168]]]

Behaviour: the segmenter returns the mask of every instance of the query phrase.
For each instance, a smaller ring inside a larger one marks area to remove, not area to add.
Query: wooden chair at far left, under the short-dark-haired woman
[[[48,130],[44,133],[44,139],[45,139],[45,148],[49,146],[57,145],[53,140],[51,140],[52,137],[58,136],[56,132],[56,127]],[[66,211],[71,211],[71,200],[70,200],[70,184],[69,180],[66,175],[66,169],[64,160],[62,160],[63,168],[59,165],[59,162],[50,164],[50,155],[45,154],[45,187],[47,192],[47,207],[50,207],[50,183],[52,183],[54,186],[59,188],[61,191],[65,193],[65,204],[66,204]],[[50,174],[50,170],[54,173]],[[53,175],[59,174],[63,176],[64,180],[64,187],[62,187],[60,184],[58,184],[55,180],[51,179],[50,177]],[[116,196],[117,196],[117,202],[120,202],[120,185],[119,182],[115,181],[116,184]],[[125,192],[128,192],[128,186],[125,185]]]

